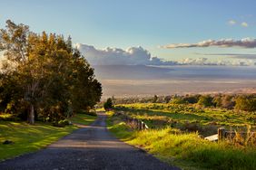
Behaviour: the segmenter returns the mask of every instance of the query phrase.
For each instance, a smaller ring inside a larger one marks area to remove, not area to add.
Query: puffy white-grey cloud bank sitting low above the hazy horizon
[[[103,50],[95,49],[92,45],[86,45],[82,43],[75,44],[75,47],[82,52],[84,58],[92,65],[256,65],[253,55],[243,57],[237,57],[233,61],[218,60],[211,61],[208,58],[186,58],[180,61],[163,61],[162,59],[152,56],[150,52],[143,49],[143,47],[129,47],[126,50],[119,48],[107,47]],[[222,55],[221,53],[210,53],[199,55]],[[235,58],[234,54],[226,53],[225,56]]]

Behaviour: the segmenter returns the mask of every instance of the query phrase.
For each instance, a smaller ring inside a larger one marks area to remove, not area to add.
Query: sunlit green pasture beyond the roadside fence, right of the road
[[[142,119],[151,128],[175,127],[198,131],[202,136],[216,134],[218,127],[245,130],[255,129],[256,112],[202,108],[192,104],[136,103],[117,105],[133,118]]]

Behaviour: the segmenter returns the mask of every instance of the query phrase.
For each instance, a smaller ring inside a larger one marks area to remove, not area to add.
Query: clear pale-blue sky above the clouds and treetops
[[[73,42],[97,49],[142,46],[165,60],[255,54],[255,48],[163,49],[172,43],[234,39],[256,35],[256,1],[247,0],[0,0],[0,27],[5,20],[28,24],[32,31],[71,35]],[[226,56],[227,57],[227,56]]]

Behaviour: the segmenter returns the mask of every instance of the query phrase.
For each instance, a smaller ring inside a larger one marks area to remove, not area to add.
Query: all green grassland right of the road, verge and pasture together
[[[146,122],[150,129],[138,131],[127,126],[122,116],[109,113],[110,131],[123,141],[142,147],[154,156],[182,169],[253,169],[256,167],[255,139],[243,138],[211,142],[202,138],[215,134],[218,127],[255,129],[255,113],[226,109],[203,109],[192,105],[127,104],[123,111]]]

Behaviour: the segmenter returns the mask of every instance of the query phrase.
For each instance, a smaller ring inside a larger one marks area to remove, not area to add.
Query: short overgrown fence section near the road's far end
[[[124,114],[123,111],[116,112],[114,115],[122,116],[125,123],[134,129],[144,130],[149,128],[142,120],[138,118],[131,118],[128,115]]]

